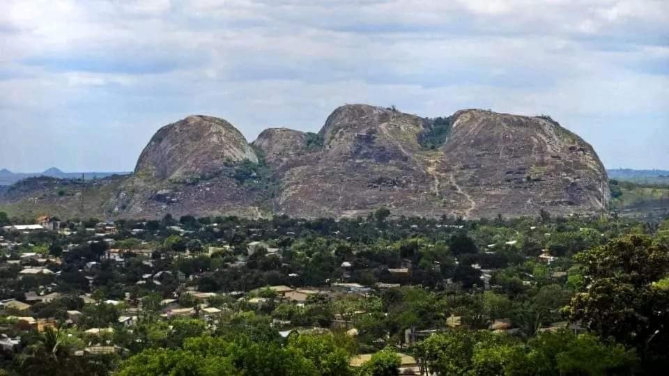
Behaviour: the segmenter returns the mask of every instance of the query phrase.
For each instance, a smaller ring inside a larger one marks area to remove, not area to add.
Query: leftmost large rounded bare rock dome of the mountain
[[[224,164],[245,159],[258,162],[233,125],[211,116],[188,116],[158,130],[134,172],[161,180],[185,180],[218,173]]]

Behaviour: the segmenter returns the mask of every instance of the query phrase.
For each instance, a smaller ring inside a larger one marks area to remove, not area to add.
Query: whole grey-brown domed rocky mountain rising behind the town
[[[471,109],[429,119],[364,104],[335,109],[318,134],[268,129],[252,144],[225,120],[189,116],[153,136],[134,174],[55,189],[13,187],[0,210],[351,217],[389,207],[477,218],[594,212],[610,196],[592,147],[551,118]]]

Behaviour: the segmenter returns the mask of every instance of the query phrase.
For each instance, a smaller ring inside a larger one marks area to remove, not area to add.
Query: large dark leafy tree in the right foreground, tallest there
[[[636,347],[646,367],[669,347],[669,249],[647,235],[626,235],[578,254],[584,283],[571,299],[571,320]],[[667,361],[663,357],[663,361]],[[647,368],[648,370],[648,368]]]

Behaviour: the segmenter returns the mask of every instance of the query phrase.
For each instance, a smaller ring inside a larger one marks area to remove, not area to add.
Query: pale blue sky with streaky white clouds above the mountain
[[[669,0],[2,0],[0,169],[132,171],[162,125],[548,114],[669,169]]]

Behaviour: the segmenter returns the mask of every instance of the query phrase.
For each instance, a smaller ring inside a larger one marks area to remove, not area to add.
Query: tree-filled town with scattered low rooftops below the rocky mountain
[[[659,260],[669,261],[669,221],[538,214],[465,221],[380,209],[338,221],[115,222],[0,214],[1,368],[603,375],[638,370],[641,357],[644,366],[666,361],[654,352],[667,343],[656,332],[666,311],[636,312],[646,319],[629,322],[639,325],[629,338],[628,327],[596,320],[642,303],[593,313],[589,304],[602,298],[585,296],[598,283],[588,258],[631,244],[648,251],[633,270],[609,260],[609,273],[628,268],[654,282],[654,299],[667,299],[669,263]]]

